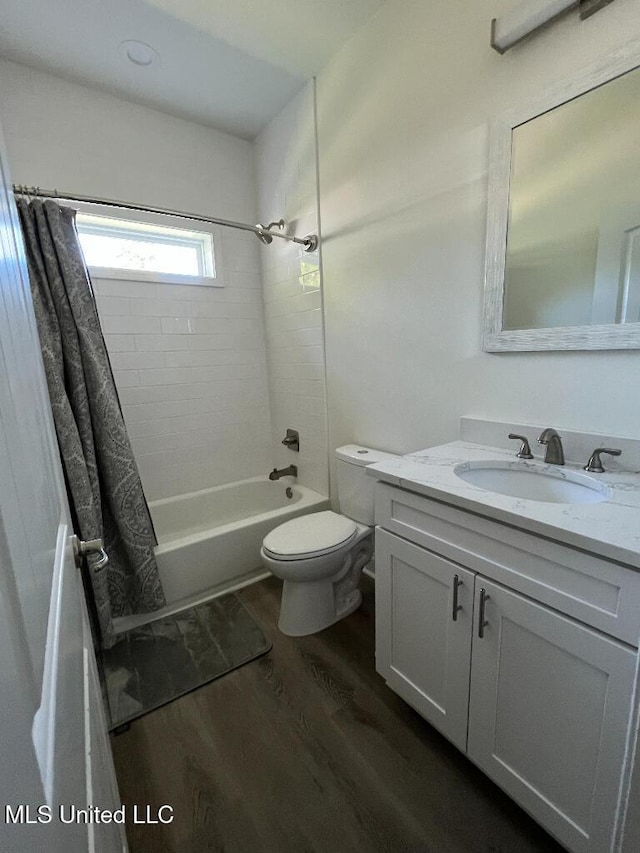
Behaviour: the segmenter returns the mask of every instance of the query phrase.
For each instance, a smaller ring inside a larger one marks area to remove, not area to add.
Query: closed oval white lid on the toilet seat
[[[325,510],[301,515],[285,521],[263,542],[265,551],[283,560],[295,557],[316,557],[337,550],[356,535],[355,521]]]

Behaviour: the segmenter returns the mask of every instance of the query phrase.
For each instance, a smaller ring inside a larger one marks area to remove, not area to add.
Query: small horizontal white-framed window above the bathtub
[[[80,245],[97,278],[222,286],[214,226],[194,230],[188,219],[75,206]]]

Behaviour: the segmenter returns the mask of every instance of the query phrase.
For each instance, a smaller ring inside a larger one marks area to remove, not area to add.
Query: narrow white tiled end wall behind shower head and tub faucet
[[[284,218],[291,233],[317,234],[314,91],[309,84],[255,140],[260,221]],[[326,393],[318,252],[274,240],[262,249],[273,459],[327,494]],[[300,453],[282,446],[287,427]]]

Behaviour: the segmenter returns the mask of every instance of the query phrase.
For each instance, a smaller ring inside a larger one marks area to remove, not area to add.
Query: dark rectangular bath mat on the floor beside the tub
[[[270,648],[271,642],[233,594],[127,631],[102,652],[110,730]]]

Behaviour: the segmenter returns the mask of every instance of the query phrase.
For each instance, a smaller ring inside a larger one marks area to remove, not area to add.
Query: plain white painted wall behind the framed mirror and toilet
[[[408,452],[463,414],[638,434],[640,353],[480,349],[488,121],[640,36],[637,0],[499,56],[515,0],[387,0],[318,79],[329,448]]]

